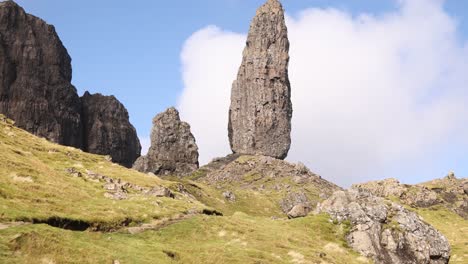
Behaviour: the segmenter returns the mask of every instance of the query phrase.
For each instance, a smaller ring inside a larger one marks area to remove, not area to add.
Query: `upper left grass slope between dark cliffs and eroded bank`
[[[0,222],[67,218],[100,225],[152,219],[205,207],[178,199],[130,194],[128,200],[104,197],[102,182],[74,178],[68,168],[87,170],[143,187],[172,182],[113,164],[104,157],[52,144],[18,128],[0,126]]]

